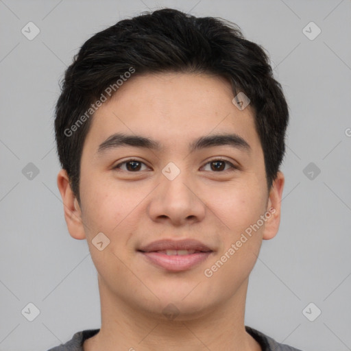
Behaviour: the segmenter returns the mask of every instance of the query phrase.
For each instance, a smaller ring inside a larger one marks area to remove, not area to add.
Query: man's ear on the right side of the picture
[[[282,190],[284,188],[284,174],[278,171],[276,179],[274,180],[271,190],[269,191],[269,198],[267,202],[267,213],[271,217],[267,218],[265,222],[265,229],[263,230],[263,240],[269,240],[276,236],[280,224],[280,206],[282,202]]]

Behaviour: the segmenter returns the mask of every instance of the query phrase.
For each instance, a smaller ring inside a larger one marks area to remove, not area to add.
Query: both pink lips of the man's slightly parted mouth
[[[195,250],[196,252],[184,255],[167,255],[158,252],[165,250]],[[208,256],[213,253],[213,250],[204,243],[193,239],[180,241],[163,239],[141,247],[138,252],[149,263],[158,268],[167,271],[186,271],[206,261]]]

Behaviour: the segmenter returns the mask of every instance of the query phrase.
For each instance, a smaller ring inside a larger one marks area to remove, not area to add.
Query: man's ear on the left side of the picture
[[[64,219],[66,219],[69,234],[71,234],[71,237],[74,239],[85,239],[86,236],[82,223],[82,212],[77,198],[71,189],[69,176],[65,169],[61,169],[60,172],[58,172],[58,190],[61,193],[64,205]]]

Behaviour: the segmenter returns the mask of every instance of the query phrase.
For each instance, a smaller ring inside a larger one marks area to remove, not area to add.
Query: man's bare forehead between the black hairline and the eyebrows
[[[235,133],[260,147],[251,106],[239,110],[222,77],[195,73],[136,75],[94,114],[88,145],[116,132],[147,136],[165,148],[208,134]],[[87,145],[87,146],[88,146]]]

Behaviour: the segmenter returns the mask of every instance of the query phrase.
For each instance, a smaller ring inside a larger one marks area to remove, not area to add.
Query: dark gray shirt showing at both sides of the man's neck
[[[283,343],[277,343],[271,337],[259,332],[250,326],[245,326],[246,331],[261,345],[262,351],[301,351],[297,348],[292,348],[289,345]],[[48,351],[83,351],[83,343],[86,339],[93,337],[99,332],[99,329],[82,330],[76,332],[70,341],[67,341],[64,345],[56,346]]]

